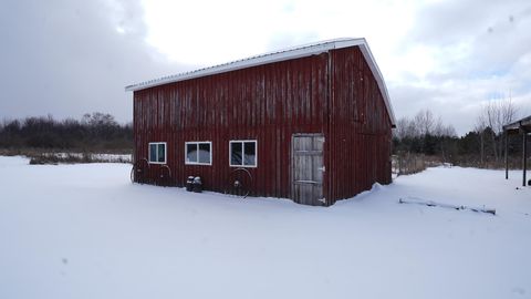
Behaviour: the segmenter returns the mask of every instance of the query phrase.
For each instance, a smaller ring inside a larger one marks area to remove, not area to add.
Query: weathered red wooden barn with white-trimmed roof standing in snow
[[[135,85],[133,179],[332,205],[391,183],[384,79],[365,39],[271,52]]]

